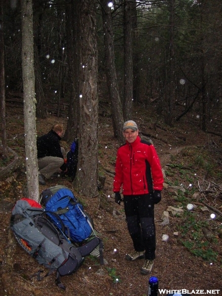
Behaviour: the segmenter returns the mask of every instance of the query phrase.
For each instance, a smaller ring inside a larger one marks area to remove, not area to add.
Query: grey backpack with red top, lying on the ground
[[[49,269],[45,275],[56,272],[56,284],[63,290],[65,286],[60,276],[73,274],[98,246],[95,238],[76,247],[55,225],[50,222],[44,210],[36,201],[29,198],[18,200],[12,209],[10,227],[19,245],[35,258],[39,264]],[[40,271],[37,273],[38,280]]]

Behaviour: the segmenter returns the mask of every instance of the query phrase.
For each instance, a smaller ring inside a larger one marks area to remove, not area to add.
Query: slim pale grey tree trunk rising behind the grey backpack
[[[32,0],[22,0],[22,75],[28,197],[38,201],[36,97]]]

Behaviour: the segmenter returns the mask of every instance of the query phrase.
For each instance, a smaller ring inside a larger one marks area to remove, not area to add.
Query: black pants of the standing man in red
[[[156,234],[152,195],[124,195],[124,208],[135,251],[145,250],[145,259],[155,259]]]

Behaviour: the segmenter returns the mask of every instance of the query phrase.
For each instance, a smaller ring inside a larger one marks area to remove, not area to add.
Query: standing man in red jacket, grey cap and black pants
[[[135,249],[126,259],[145,258],[141,273],[146,275],[155,259],[154,204],[161,200],[163,174],[154,146],[138,134],[136,122],[124,123],[126,143],[117,151],[113,191],[115,202],[120,205],[122,188],[127,227]]]

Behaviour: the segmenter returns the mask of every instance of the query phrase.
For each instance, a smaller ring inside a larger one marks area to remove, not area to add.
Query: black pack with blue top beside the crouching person
[[[70,151],[66,154],[67,158],[67,172],[65,176],[71,177],[72,181],[75,178],[77,164],[78,164],[78,140],[75,140],[71,147]]]

